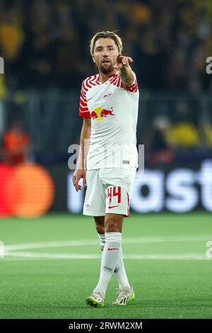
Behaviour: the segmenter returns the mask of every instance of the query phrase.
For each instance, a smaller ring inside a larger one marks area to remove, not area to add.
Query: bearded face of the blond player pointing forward
[[[119,50],[114,40],[99,38],[94,45],[93,62],[95,62],[100,72],[110,74],[114,70],[118,54]]]

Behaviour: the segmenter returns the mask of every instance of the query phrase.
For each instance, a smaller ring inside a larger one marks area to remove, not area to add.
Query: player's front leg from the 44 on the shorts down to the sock
[[[119,268],[119,259],[122,258],[122,222],[124,215],[128,215],[129,196],[126,191],[126,177],[122,169],[100,170],[100,178],[107,195],[105,248],[102,252],[100,280],[95,291],[101,290],[102,293],[105,293],[112,273],[116,267]],[[118,264],[119,266],[117,266]],[[129,286],[127,278],[126,281],[126,286]]]

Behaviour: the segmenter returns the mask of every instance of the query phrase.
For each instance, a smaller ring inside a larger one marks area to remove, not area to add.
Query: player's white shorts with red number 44
[[[136,168],[87,170],[87,190],[83,214],[105,216],[105,213],[129,216],[129,202]]]

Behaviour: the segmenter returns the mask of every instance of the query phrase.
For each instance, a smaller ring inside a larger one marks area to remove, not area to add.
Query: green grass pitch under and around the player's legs
[[[1,219],[0,317],[212,318],[209,240],[210,213],[131,215],[124,220],[122,244],[136,300],[112,306],[118,288],[113,276],[105,307],[93,308],[85,303],[100,269],[93,218],[51,213]]]

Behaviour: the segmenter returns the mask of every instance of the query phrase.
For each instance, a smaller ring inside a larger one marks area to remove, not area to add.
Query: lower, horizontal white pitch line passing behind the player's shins
[[[100,259],[100,254],[52,254],[35,252],[6,252],[6,259]],[[15,259],[15,258],[14,258]],[[124,259],[151,260],[208,260],[201,254],[125,254]]]

